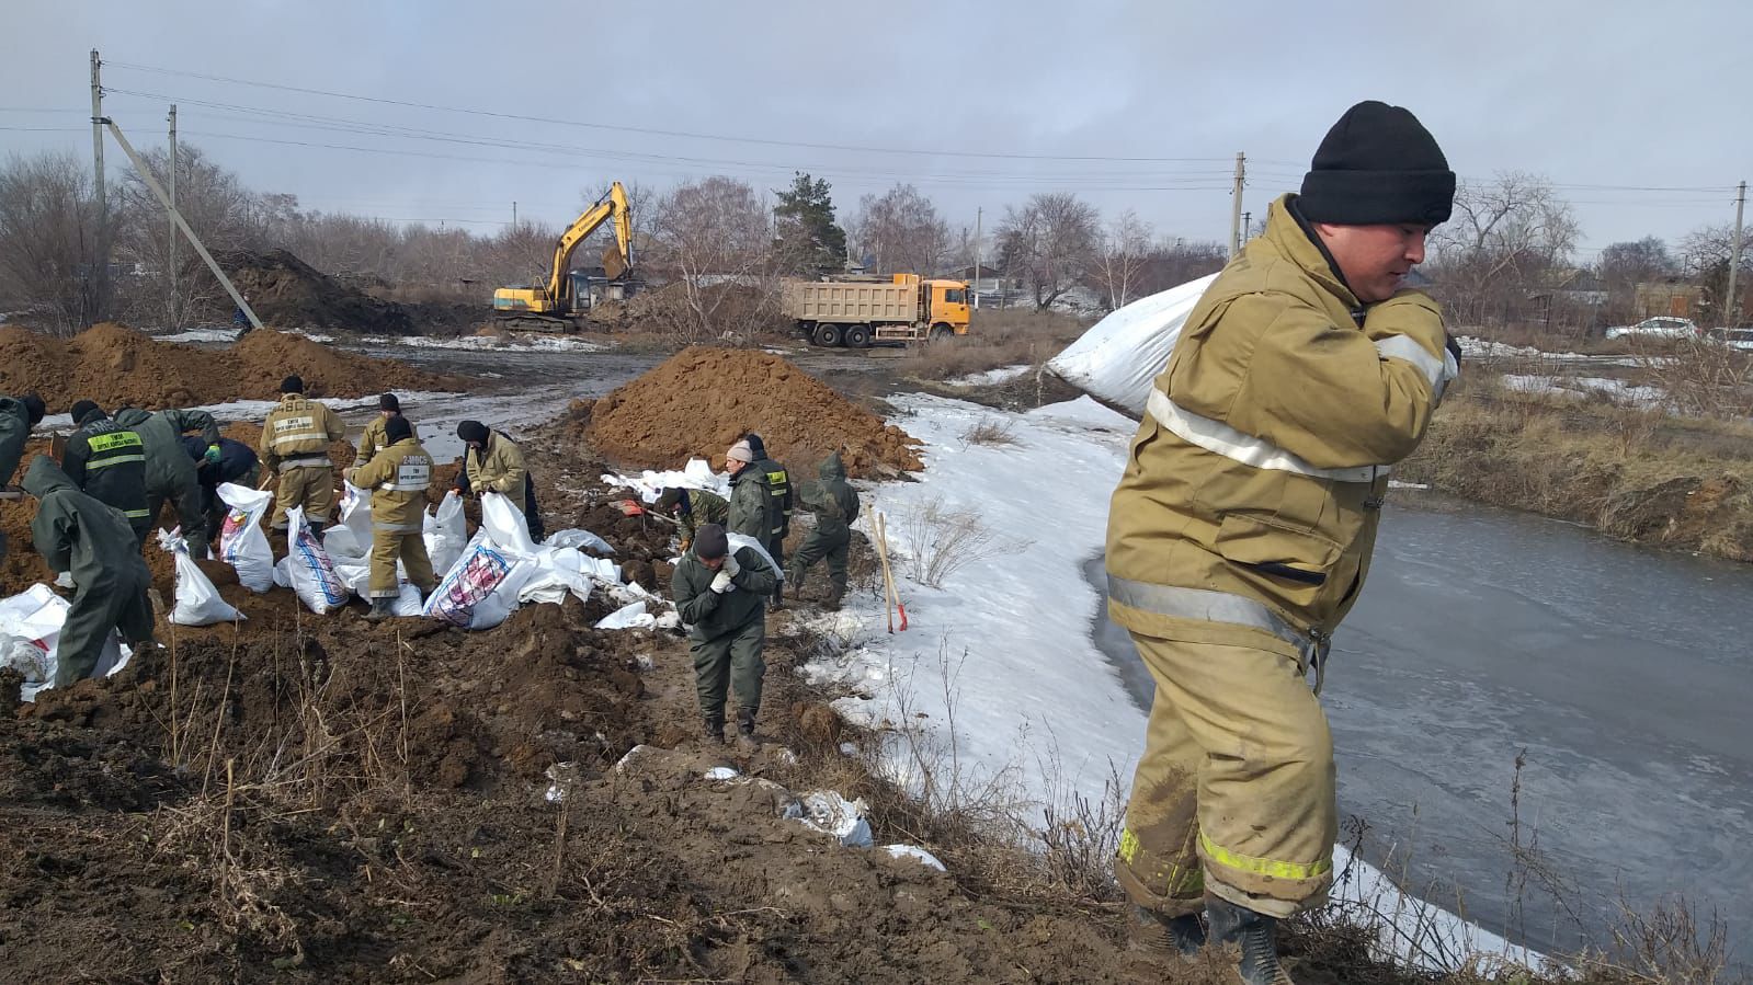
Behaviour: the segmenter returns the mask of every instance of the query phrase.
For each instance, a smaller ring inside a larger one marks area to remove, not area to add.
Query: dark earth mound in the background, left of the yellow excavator
[[[223,254],[219,265],[263,324],[344,328],[373,335],[414,331],[414,319],[396,301],[342,284],[284,249],[235,251]]]

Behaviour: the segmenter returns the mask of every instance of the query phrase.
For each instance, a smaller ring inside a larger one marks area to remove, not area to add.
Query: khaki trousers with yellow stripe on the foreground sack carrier
[[[1278,640],[1132,643],[1157,698],[1115,859],[1125,894],[1166,917],[1204,892],[1280,918],[1325,903],[1332,734],[1297,659]]]

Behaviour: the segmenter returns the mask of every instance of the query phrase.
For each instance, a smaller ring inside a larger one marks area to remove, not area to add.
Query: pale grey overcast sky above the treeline
[[[841,216],[906,181],[954,224],[983,207],[990,231],[1006,203],[1076,191],[1222,240],[1234,154],[1260,214],[1362,98],[1416,112],[1462,179],[1548,177],[1583,261],[1730,223],[1753,177],[1744,2],[1217,7],[5,0],[0,147],[89,158],[96,47],[137,145],[163,142],[177,102],[182,140],[251,188],[487,233],[514,200],[566,223],[610,179],[771,189],[801,168]]]

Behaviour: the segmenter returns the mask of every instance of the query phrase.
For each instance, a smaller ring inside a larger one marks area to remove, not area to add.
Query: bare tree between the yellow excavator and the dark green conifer
[[[713,175],[664,195],[652,216],[652,266],[682,284],[694,338],[749,333],[773,300],[768,210],[747,182]]]

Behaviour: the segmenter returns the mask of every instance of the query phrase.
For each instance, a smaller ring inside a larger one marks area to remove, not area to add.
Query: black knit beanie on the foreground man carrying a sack
[[[1436,226],[1453,207],[1455,172],[1436,137],[1406,107],[1376,100],[1332,124],[1297,198],[1304,219],[1338,226]]]

